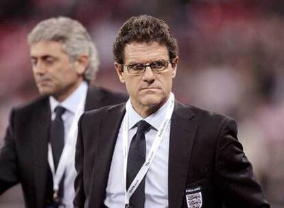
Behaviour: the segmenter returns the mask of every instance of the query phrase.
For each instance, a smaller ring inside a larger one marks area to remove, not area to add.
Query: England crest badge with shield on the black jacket
[[[187,200],[188,208],[201,208],[202,207],[201,187],[193,187],[185,190],[185,198]]]

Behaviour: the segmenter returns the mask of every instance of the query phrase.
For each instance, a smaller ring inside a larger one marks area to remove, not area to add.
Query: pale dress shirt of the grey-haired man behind
[[[51,107],[51,120],[54,120],[56,117],[56,113],[54,112],[54,109],[60,105],[66,109],[64,114],[62,114],[62,120],[64,122],[64,144],[66,144],[68,141],[68,132],[70,131],[71,124],[73,121],[73,118],[75,116],[75,113],[78,110],[78,107],[84,99],[84,102],[86,101],[86,94],[88,90],[88,84],[83,81],[80,86],[69,96],[67,99],[65,99],[62,103],[59,103],[54,99],[54,97],[49,96],[49,102]],[[75,150],[75,146],[74,146]],[[72,157],[71,157],[72,158]],[[74,159],[74,158],[73,158]],[[73,207],[73,198],[75,196],[75,190],[74,190],[74,180],[76,176],[76,170],[74,163],[71,163],[67,166],[64,174],[64,198],[63,203],[66,206],[66,208]]]

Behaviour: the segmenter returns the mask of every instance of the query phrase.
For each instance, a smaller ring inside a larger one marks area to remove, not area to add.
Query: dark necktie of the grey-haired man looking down
[[[58,162],[64,148],[64,122],[62,120],[62,114],[64,114],[64,107],[58,106],[54,110],[56,113],[56,118],[51,121],[50,126],[50,143],[52,149],[52,155],[54,157],[54,168],[57,169]],[[59,197],[63,197],[64,192],[64,175],[60,181],[59,185]],[[50,169],[47,171],[47,204],[53,201],[53,179]]]

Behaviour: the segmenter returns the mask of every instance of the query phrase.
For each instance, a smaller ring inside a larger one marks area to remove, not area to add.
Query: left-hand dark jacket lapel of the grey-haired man
[[[39,105],[34,114],[31,126],[33,127],[33,155],[34,155],[34,185],[36,189],[36,207],[43,207],[45,200],[45,181],[47,179],[47,142],[49,137],[50,107],[48,99]]]

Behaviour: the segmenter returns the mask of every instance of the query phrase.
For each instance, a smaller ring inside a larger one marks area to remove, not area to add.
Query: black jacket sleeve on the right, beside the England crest
[[[215,158],[216,183],[226,207],[270,207],[252,166],[237,140],[235,120],[227,118],[219,132]]]

